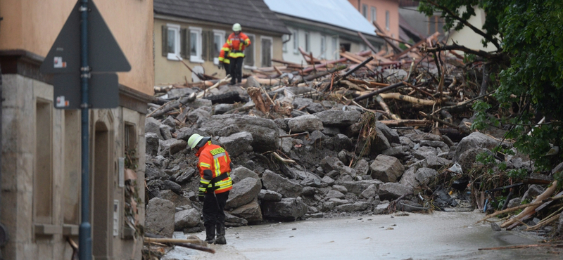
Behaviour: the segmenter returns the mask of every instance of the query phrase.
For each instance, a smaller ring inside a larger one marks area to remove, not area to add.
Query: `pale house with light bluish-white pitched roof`
[[[340,50],[359,52],[368,50],[358,36],[361,32],[377,51],[383,39],[375,34],[375,27],[347,0],[265,0],[291,35],[284,36],[284,60],[305,64],[305,53],[314,58],[339,58]]]

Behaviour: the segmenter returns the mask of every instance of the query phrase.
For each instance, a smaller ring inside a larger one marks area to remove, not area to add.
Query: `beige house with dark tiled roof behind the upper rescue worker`
[[[251,39],[245,69],[270,67],[272,58],[282,58],[281,37],[290,32],[262,0],[154,0],[156,85],[198,81],[182,63],[224,77],[220,48],[237,22]]]

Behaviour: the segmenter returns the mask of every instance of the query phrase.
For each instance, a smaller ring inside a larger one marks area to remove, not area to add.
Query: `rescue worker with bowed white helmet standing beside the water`
[[[229,190],[233,188],[231,174],[231,158],[229,153],[219,145],[214,145],[210,137],[193,134],[188,139],[189,147],[197,148],[198,170],[201,176],[198,199],[203,202],[203,226],[205,226],[205,242],[224,245],[224,205],[229,198]],[[217,230],[217,238],[215,238]]]

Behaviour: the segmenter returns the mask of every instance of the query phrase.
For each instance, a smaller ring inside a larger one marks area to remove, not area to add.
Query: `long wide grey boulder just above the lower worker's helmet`
[[[251,133],[251,145],[255,152],[279,149],[279,128],[270,119],[249,115],[214,115],[208,122],[201,124],[201,128],[215,136],[217,131],[229,125],[236,125],[241,131]]]

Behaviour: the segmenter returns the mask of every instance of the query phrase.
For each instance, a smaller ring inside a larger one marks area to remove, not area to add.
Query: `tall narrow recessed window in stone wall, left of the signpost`
[[[50,224],[53,216],[53,103],[35,104],[34,222]]]

